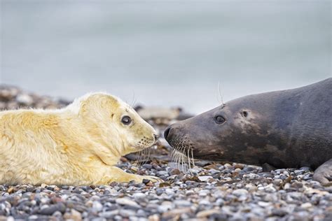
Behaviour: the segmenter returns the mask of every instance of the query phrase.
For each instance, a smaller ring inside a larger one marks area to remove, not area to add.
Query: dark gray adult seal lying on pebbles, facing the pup
[[[211,161],[263,169],[310,166],[332,180],[332,78],[292,90],[253,94],[172,124],[173,148]]]

